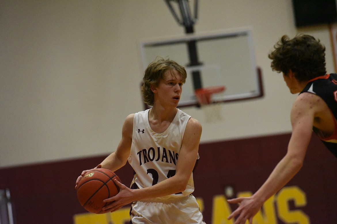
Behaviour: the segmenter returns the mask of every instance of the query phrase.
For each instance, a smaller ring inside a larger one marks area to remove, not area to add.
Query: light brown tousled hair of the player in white
[[[158,59],[159,58],[159,59]],[[183,66],[177,62],[170,60],[169,58],[163,59],[158,57],[155,61],[151,62],[144,72],[142,94],[145,103],[153,106],[154,94],[151,90],[151,85],[158,86],[160,81],[164,79],[164,73],[167,70],[176,70],[181,75],[183,83],[186,81],[186,70]]]

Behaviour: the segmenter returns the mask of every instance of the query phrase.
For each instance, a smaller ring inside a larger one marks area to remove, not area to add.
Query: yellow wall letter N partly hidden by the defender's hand
[[[250,191],[245,191],[239,192],[237,196],[249,197],[251,195],[252,193]],[[262,206],[264,213],[259,210],[253,218],[253,224],[277,224],[274,200],[275,196],[272,196],[268,200],[266,200],[266,202]],[[246,223],[248,223],[248,221]]]

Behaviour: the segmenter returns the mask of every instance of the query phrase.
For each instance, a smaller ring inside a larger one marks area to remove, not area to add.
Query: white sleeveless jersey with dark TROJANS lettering
[[[178,109],[170,126],[158,134],[150,127],[149,110],[136,113],[133,119],[132,145],[128,162],[135,171],[132,183],[135,183],[137,188],[150,187],[175,175],[186,124],[191,117]],[[193,191],[191,174],[183,192],[152,199],[173,199],[189,195]]]

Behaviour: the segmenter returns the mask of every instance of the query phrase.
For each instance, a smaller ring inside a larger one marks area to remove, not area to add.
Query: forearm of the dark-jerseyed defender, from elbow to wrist
[[[301,169],[303,161],[286,155],[274,168],[266,182],[253,194],[253,198],[265,202],[286,185]]]

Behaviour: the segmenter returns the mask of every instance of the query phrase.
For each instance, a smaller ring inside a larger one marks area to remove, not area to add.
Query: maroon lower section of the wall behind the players
[[[236,192],[255,192],[285,155],[289,138],[281,134],[200,145],[193,195],[204,200],[206,223],[212,222],[213,196],[227,185]],[[86,212],[77,200],[75,180],[105,157],[0,169],[0,189],[10,190],[16,224],[72,224],[74,214]],[[301,210],[311,223],[337,223],[336,170],[337,159],[313,136],[303,168],[287,184],[306,193],[308,204]],[[128,164],[116,174],[129,186],[133,171]]]

